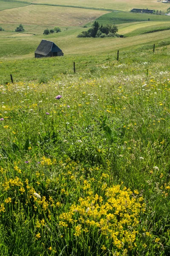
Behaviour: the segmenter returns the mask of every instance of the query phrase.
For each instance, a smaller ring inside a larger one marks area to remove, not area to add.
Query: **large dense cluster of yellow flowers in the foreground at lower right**
[[[137,190],[135,192],[138,194]],[[79,198],[79,204],[73,204],[69,212],[60,215],[60,226],[75,230],[75,236],[96,229],[117,249],[123,250],[127,244],[131,250],[138,233],[139,214],[145,211],[143,198],[133,196],[130,189],[121,189],[120,185],[106,188],[103,197],[92,195],[91,191],[89,194]]]

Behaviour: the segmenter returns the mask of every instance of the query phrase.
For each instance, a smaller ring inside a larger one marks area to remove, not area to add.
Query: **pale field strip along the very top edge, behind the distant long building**
[[[84,7],[98,7],[105,9],[115,9],[121,11],[130,11],[133,8],[140,9],[156,9],[166,12],[170,6],[169,3],[164,4],[155,0],[30,0],[32,3],[51,3],[51,4],[62,4],[62,5],[73,5],[73,6],[84,6]]]

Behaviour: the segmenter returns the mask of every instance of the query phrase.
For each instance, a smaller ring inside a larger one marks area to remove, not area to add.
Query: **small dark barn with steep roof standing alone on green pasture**
[[[52,41],[42,40],[35,51],[35,58],[63,56],[62,50]]]

